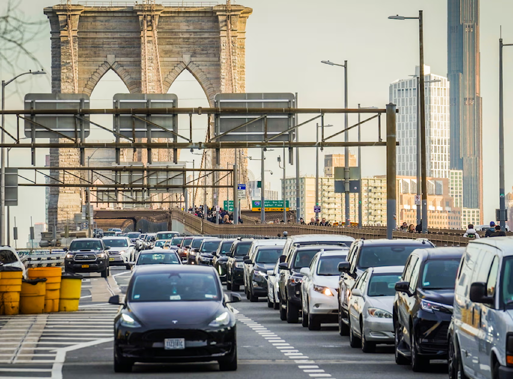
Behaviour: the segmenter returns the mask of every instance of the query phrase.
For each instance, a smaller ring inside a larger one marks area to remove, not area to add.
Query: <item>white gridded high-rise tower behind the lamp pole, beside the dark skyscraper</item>
[[[416,67],[416,75],[419,75]],[[424,66],[427,176],[449,177],[449,83]],[[390,102],[397,104],[397,175],[417,176],[417,78],[390,84]]]

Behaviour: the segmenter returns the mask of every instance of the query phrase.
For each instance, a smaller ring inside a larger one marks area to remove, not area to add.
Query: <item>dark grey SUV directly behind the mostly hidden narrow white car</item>
[[[249,264],[249,281],[246,293],[249,301],[258,301],[259,297],[267,296],[267,270],[272,270],[276,261],[283,254],[283,246],[259,246],[252,259],[244,259]]]

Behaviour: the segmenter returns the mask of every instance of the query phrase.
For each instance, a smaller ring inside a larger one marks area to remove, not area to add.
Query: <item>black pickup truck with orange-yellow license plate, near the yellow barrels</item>
[[[102,278],[109,276],[110,246],[98,238],[77,238],[71,241],[64,257],[66,272],[98,272]]]

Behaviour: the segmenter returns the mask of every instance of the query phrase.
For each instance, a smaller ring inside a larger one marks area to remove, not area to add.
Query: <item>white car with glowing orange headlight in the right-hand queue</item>
[[[321,323],[337,322],[339,263],[344,262],[346,257],[347,250],[321,250],[313,257],[310,267],[301,269],[303,326],[309,330],[320,330]]]

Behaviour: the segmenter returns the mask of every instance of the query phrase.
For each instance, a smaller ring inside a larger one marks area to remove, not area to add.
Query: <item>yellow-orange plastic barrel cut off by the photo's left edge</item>
[[[22,291],[23,271],[18,267],[0,267],[0,314],[19,313],[19,293]]]

